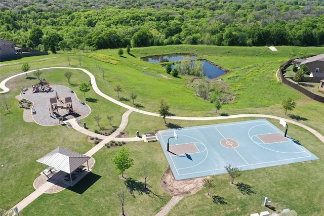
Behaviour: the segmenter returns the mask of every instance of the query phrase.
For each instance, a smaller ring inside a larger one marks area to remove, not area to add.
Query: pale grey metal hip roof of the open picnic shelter
[[[91,157],[84,154],[79,154],[77,152],[58,147],[36,161],[48,166],[52,166],[64,172],[71,173],[90,158]]]

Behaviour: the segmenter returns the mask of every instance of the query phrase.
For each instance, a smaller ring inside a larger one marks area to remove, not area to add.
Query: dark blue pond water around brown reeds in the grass
[[[186,59],[186,58],[195,59],[195,58],[197,58],[197,56],[174,54],[174,55],[165,55],[165,56],[145,57],[145,58],[142,58],[142,60],[150,62],[150,63],[161,63],[161,62],[181,61],[181,60]],[[204,68],[203,68],[204,73],[210,79],[219,77],[219,76],[226,73],[226,71],[216,67],[215,65],[211,64],[210,62],[208,62],[206,60],[199,60],[199,61],[203,62],[203,64],[204,64]],[[174,65],[172,65],[172,69],[173,68],[174,68]]]

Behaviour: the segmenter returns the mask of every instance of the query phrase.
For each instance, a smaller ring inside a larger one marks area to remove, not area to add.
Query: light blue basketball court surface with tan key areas
[[[318,159],[266,119],[167,129],[157,137],[176,180],[224,174],[229,164],[247,170]]]

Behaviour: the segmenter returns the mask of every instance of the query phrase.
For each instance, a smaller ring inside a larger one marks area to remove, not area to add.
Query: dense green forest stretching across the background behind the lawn
[[[0,1],[0,38],[36,50],[324,45],[324,1]]]

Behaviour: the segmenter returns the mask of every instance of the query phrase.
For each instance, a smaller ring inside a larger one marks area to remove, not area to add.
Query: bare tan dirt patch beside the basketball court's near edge
[[[204,177],[175,180],[170,167],[167,169],[161,179],[161,188],[173,196],[186,196],[194,194],[200,188],[204,187]]]

